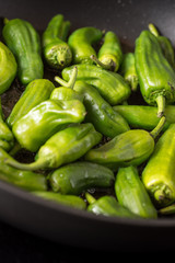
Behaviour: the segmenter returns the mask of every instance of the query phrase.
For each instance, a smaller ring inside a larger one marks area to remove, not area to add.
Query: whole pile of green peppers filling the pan
[[[12,87],[20,95],[9,108]],[[155,25],[124,53],[115,32],[72,31],[62,14],[42,33],[4,19],[0,180],[95,216],[139,220],[175,213],[174,171],[174,48]]]

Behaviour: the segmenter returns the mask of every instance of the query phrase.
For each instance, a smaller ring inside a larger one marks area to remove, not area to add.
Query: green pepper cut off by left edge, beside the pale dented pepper
[[[3,119],[0,98],[0,147],[9,151],[14,145],[14,136]]]

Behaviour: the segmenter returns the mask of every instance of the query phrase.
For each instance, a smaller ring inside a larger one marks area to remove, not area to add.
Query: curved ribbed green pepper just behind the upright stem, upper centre
[[[83,80],[94,85],[100,94],[110,104],[116,105],[126,101],[131,91],[124,78],[108,70],[102,69],[95,65],[77,65],[77,80]],[[73,66],[62,70],[62,78],[69,81]]]

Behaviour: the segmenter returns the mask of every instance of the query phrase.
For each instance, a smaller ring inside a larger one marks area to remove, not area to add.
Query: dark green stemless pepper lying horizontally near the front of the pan
[[[108,168],[77,161],[50,172],[48,180],[54,192],[80,195],[92,187],[110,187],[115,178]]]

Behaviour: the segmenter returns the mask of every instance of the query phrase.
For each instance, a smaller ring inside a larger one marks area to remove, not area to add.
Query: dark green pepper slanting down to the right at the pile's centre
[[[130,129],[125,118],[120,114],[116,114],[94,87],[84,81],[77,81],[73,89],[84,98],[83,104],[88,112],[85,122],[92,123],[97,132],[114,138]]]

